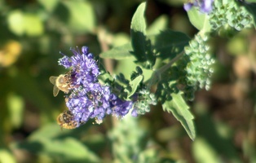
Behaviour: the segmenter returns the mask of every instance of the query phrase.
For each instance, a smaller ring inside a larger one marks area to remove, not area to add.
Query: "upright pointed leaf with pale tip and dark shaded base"
[[[137,63],[142,64],[143,68],[152,68],[156,62],[156,56],[152,52],[151,41],[146,37],[146,20],[144,11],[146,2],[143,2],[135,11],[130,24],[131,45]]]

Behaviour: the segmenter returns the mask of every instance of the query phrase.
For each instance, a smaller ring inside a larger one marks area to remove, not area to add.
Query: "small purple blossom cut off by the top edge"
[[[213,10],[212,3],[214,0],[194,0],[194,2],[188,2],[184,4],[185,11],[189,11],[192,7],[199,7],[203,13],[210,13]]]

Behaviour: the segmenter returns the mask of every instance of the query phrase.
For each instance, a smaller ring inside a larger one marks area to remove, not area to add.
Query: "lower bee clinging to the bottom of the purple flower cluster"
[[[57,117],[57,123],[60,125],[61,130],[64,129],[74,129],[77,128],[77,121],[74,121],[73,119],[73,113],[69,110],[64,111],[63,113],[60,113],[60,115]]]

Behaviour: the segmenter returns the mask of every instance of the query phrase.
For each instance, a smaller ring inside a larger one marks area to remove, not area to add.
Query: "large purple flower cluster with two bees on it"
[[[109,86],[99,84],[99,66],[86,46],[82,53],[71,49],[73,56],[64,55],[59,64],[70,70],[70,94],[66,97],[66,105],[74,115],[78,124],[95,118],[101,123],[106,114],[124,117],[132,108],[131,101],[123,101],[114,95]],[[79,126],[79,125],[78,125]]]

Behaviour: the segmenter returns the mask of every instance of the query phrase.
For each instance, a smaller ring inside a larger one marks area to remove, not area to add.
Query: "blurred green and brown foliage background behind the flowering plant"
[[[161,106],[122,121],[106,117],[75,130],[60,130],[55,118],[66,108],[53,97],[51,75],[60,51],[89,46],[99,55],[129,42],[130,20],[139,0],[0,1],[0,162],[256,162],[256,34],[214,36],[213,86],[190,102],[196,139]],[[152,31],[197,32],[182,0],[148,1]],[[104,59],[110,72],[130,75],[131,60]]]

